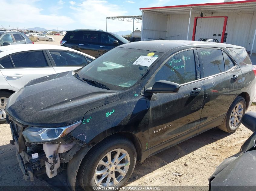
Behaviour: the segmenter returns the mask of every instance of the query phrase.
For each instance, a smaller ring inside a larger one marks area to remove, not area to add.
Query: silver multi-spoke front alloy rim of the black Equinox
[[[98,162],[94,181],[97,186],[115,186],[126,175],[130,166],[130,156],[121,148],[109,151]]]

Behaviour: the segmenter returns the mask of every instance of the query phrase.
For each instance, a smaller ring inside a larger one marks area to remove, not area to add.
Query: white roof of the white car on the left
[[[9,45],[9,46],[1,46],[0,47],[0,58],[7,56],[9,54],[18,53],[18,52],[24,52],[24,51],[30,51],[30,50],[69,50],[76,53],[83,54],[85,56],[88,56],[92,59],[95,59],[93,56],[90,56],[88,54],[79,52],[77,50],[65,47],[65,46],[58,46],[58,45],[48,45],[48,44],[17,44],[17,45]]]

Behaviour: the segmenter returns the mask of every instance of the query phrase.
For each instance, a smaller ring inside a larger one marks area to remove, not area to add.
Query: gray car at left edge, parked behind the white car
[[[0,46],[34,44],[29,38],[21,32],[0,31]]]

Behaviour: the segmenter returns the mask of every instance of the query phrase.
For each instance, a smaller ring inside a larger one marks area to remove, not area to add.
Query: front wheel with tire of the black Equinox
[[[124,159],[116,163],[116,165],[123,164],[122,167],[115,166],[115,163],[112,164],[115,160],[114,158],[116,157],[117,151],[121,151],[119,154],[119,158],[126,154],[126,157],[124,157]],[[108,153],[110,153],[110,162],[108,162]],[[102,162],[101,164],[99,164],[101,160]],[[106,166],[102,165],[103,163]],[[78,170],[78,183],[86,191],[97,190],[97,188],[94,189],[95,186],[118,186],[118,188],[121,188],[131,177],[135,164],[136,149],[133,143],[127,138],[122,138],[119,136],[109,137],[102,141],[100,144],[96,145],[90,150],[88,154],[85,155],[85,158],[83,159]],[[96,175],[96,171],[102,170],[104,170],[104,173]],[[126,171],[124,176],[121,176],[121,173],[118,172],[120,170],[122,170],[122,173]],[[106,178],[104,178],[102,181],[99,181],[104,175]],[[118,182],[114,183],[114,179],[112,178],[113,176],[115,176],[115,180],[117,180]],[[109,183],[107,184],[108,180]],[[96,181],[99,181],[101,185],[97,185]]]

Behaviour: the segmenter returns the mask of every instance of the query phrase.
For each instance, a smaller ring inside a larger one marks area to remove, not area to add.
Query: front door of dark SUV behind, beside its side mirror
[[[118,44],[116,44],[116,43],[114,43],[115,40],[118,41],[118,39],[113,37],[112,35],[110,35],[108,33],[101,32],[100,33],[99,54],[102,55],[102,54],[108,52],[109,50],[111,50],[112,48],[115,48],[116,46],[118,46],[119,41],[118,41]]]

